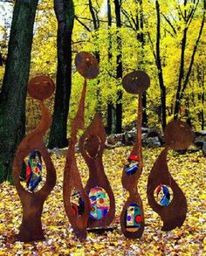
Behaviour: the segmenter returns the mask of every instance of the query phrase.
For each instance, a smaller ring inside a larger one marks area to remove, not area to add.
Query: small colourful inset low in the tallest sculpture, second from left
[[[72,190],[71,203],[73,213],[76,216],[82,216],[85,211],[85,203],[79,190]]]

